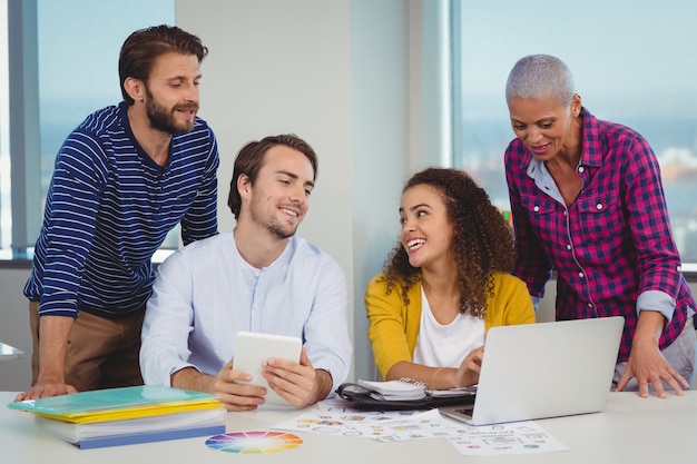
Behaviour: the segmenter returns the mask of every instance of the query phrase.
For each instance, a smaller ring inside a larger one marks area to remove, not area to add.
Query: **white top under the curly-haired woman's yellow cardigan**
[[[484,345],[484,320],[458,314],[450,324],[433,317],[426,294],[421,287],[421,326],[414,347],[414,363],[432,367],[460,367],[474,348]]]

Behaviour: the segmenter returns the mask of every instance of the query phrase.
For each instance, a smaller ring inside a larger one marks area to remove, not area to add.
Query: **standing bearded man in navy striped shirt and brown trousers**
[[[63,142],[24,287],[32,386],[18,399],[143,383],[153,254],[177,224],[184,244],[217,234],[218,149],[196,117],[207,52],[176,27],[135,31],[119,57],[124,101]]]

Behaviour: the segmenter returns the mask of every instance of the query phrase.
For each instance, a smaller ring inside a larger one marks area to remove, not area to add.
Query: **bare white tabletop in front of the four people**
[[[635,393],[611,393],[606,412],[538,421],[570,451],[510,456],[463,456],[444,438],[376,443],[369,438],[297,433],[295,450],[267,455],[215,451],[207,437],[78,450],[38,430],[28,413],[6,407],[14,393],[0,393],[0,453],[3,463],[662,463],[697,462],[697,391],[684,397],[641,399]],[[297,412],[229,413],[227,432],[266,431]],[[294,432],[295,433],[295,432]]]

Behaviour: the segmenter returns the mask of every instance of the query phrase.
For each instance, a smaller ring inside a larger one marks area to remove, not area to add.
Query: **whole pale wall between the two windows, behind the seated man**
[[[362,294],[392,244],[408,171],[408,2],[179,0],[176,21],[210,50],[200,115],[220,145],[220,228],[234,227],[225,201],[238,148],[305,138],[320,169],[298,233],[346,273],[359,371],[372,375]]]

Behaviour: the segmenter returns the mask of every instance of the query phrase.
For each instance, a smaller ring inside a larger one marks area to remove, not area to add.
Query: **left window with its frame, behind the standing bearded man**
[[[174,24],[175,1],[0,0],[0,29],[9,31],[0,39],[0,246],[21,250],[39,235],[63,139],[87,115],[121,100],[124,40]],[[165,246],[176,248],[177,235]]]

